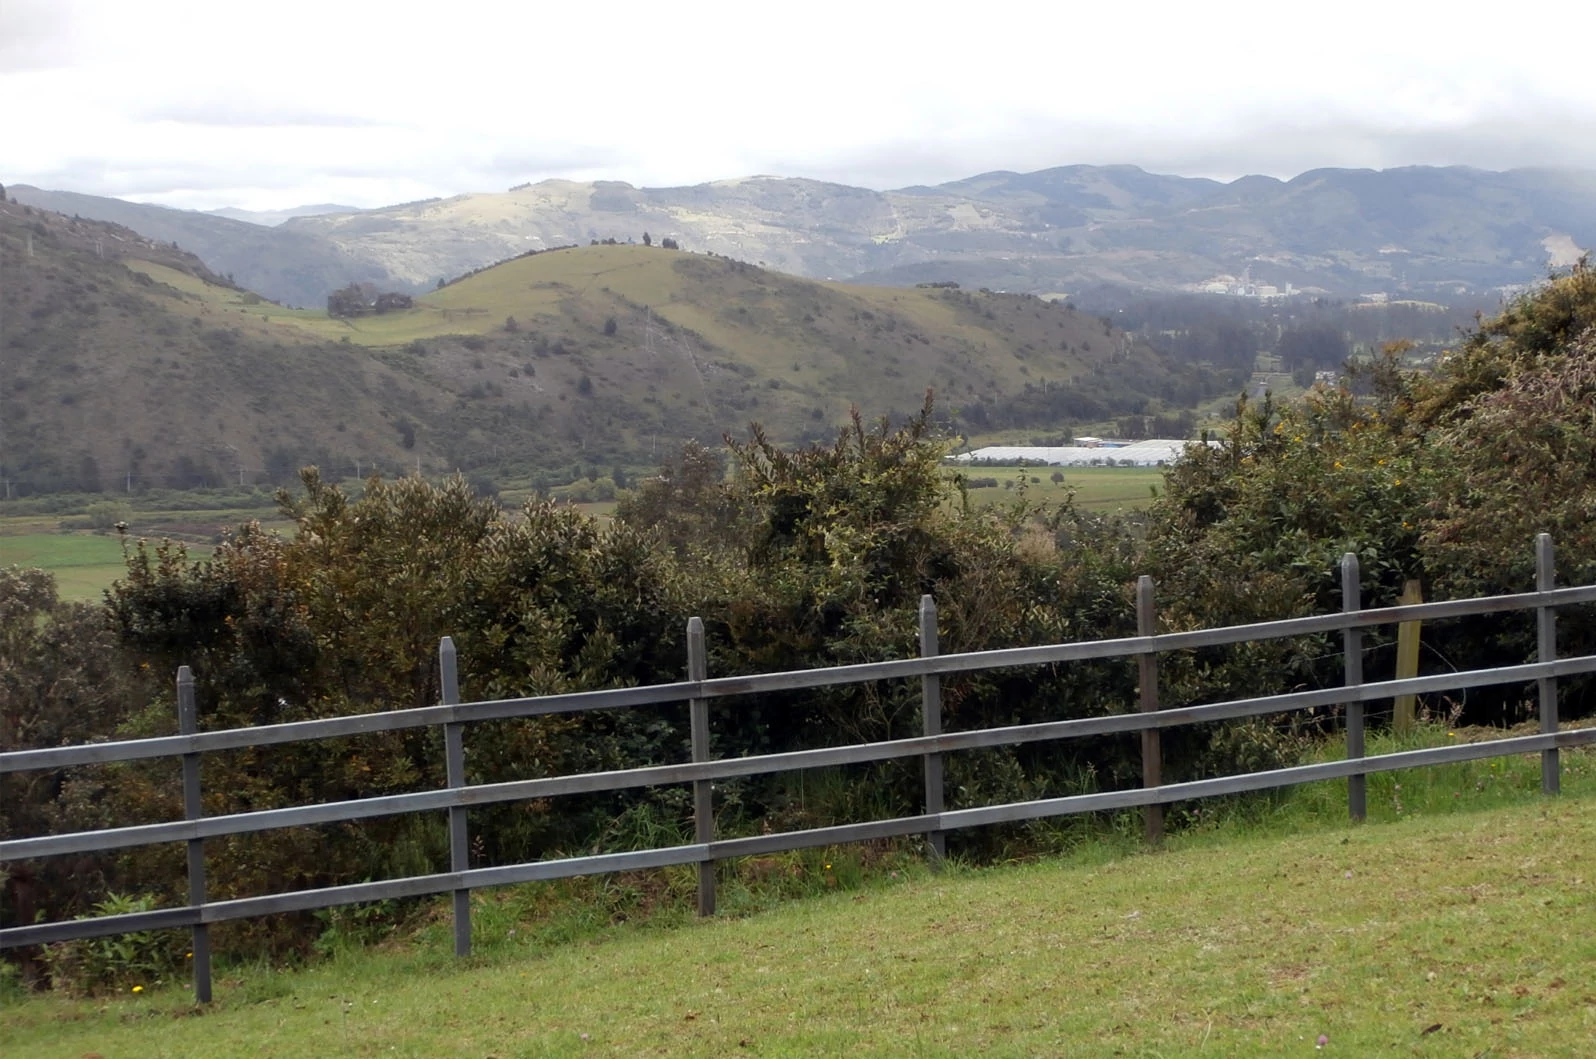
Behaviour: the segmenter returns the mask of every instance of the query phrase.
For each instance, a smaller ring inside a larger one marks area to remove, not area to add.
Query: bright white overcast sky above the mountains
[[[1596,5],[0,0],[0,182],[381,206],[1132,163],[1596,169]]]

